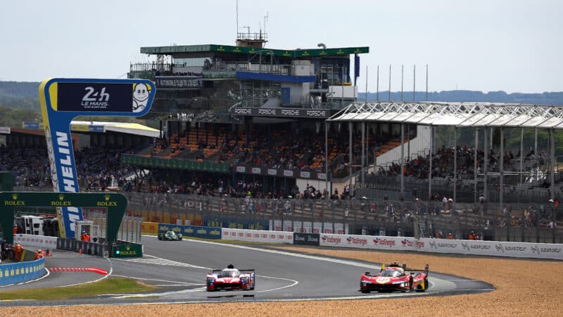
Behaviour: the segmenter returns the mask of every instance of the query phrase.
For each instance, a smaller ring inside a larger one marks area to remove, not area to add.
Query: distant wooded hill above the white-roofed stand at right
[[[400,101],[400,92],[391,92],[391,100]],[[426,101],[426,92],[416,92],[416,101]],[[365,100],[365,92],[358,92],[358,101]],[[367,100],[377,100],[377,94],[367,92]],[[379,100],[389,100],[389,92],[379,92]],[[412,92],[403,92],[404,101],[412,101]],[[450,90],[445,92],[428,92],[428,101],[450,102],[501,102],[505,104],[543,104],[563,106],[563,92],[543,92],[541,94],[524,94],[514,92],[474,92],[470,90]]]

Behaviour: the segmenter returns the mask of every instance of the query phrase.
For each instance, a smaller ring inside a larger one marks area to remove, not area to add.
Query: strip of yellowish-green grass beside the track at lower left
[[[106,278],[99,282],[69,287],[34,288],[25,290],[6,290],[0,292],[0,300],[23,299],[70,299],[94,297],[103,294],[140,293],[158,290],[160,287],[146,285],[131,278]]]

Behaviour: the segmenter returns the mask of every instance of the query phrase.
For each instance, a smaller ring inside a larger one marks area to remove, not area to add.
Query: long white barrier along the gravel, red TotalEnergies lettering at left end
[[[563,260],[563,244],[327,234],[320,246]]]

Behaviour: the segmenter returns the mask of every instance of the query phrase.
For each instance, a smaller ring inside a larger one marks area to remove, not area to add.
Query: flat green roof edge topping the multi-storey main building
[[[343,47],[337,49],[257,49],[255,47],[241,47],[231,45],[180,45],[180,46],[148,46],[141,47],[142,54],[172,55],[178,53],[225,52],[237,54],[258,54],[262,51],[273,51],[275,56],[284,57],[309,57],[309,56],[345,56],[350,54],[369,53],[368,46]]]

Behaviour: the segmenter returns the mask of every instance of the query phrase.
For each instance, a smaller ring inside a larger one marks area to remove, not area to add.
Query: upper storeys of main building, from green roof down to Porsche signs
[[[267,35],[239,33],[236,46],[141,47],[156,61],[131,63],[128,77],[156,82],[151,118],[207,111],[237,116],[237,108],[340,109],[358,99],[360,55],[369,47],[285,50],[265,42]]]

